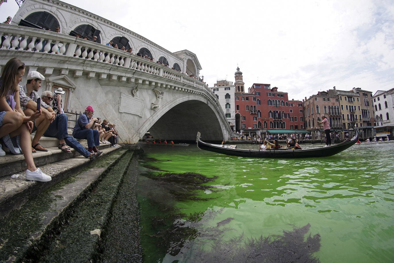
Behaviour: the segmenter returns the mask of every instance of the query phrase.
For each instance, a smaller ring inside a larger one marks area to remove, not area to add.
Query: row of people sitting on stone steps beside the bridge
[[[25,74],[25,65],[17,58],[9,60],[0,76],[0,156],[5,156],[4,148],[11,154],[23,154],[26,161],[26,179],[33,181],[50,181],[51,177],[35,166],[33,153],[48,151],[39,141],[42,136],[58,138],[58,148],[64,153],[71,154],[72,147],[85,158],[95,160],[102,151],[100,144],[110,143],[111,147],[119,147],[119,134],[115,124],[104,119],[93,118],[94,110],[87,106],[72,129],[68,132],[68,118],[63,110],[61,95],[62,88],[43,91],[41,96],[37,91],[45,79],[38,71],[30,71],[26,85],[19,86]],[[33,140],[31,135],[35,132]],[[78,140],[87,140],[85,149]]]

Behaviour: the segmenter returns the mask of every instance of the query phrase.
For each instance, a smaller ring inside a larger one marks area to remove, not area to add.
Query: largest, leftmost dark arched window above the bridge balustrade
[[[50,31],[56,32],[56,27],[59,26],[59,22],[52,14],[45,11],[39,11],[31,13],[25,19],[21,19],[19,26],[28,26],[40,29],[50,28]]]

